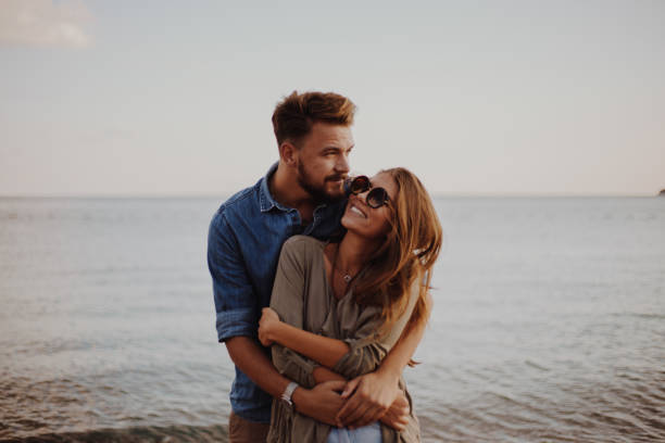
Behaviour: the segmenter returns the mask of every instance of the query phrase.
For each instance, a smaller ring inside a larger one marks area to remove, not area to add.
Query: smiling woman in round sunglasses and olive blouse
[[[375,370],[404,328],[427,321],[431,267],[441,226],[429,195],[407,169],[356,177],[339,243],[294,236],[283,246],[271,308],[259,338],[273,363],[300,385],[352,379]],[[403,387],[403,384],[402,384]],[[412,409],[413,410],[413,409]],[[413,412],[402,432],[373,423],[339,430],[273,402],[268,441],[419,440]]]

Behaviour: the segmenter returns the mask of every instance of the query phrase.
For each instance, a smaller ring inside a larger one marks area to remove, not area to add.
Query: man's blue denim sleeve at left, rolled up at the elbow
[[[208,233],[208,268],[212,276],[217,340],[258,337],[258,301],[238,240],[223,212],[213,217]]]

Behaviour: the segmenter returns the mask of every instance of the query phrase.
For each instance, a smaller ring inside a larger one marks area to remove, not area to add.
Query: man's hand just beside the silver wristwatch
[[[336,416],[344,401],[339,394],[346,381],[325,381],[314,389],[298,388],[292,400],[296,410],[315,420],[336,426]]]

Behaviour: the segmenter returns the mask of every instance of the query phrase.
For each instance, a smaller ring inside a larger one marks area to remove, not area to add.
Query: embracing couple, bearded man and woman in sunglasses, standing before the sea
[[[441,226],[407,169],[348,177],[354,112],[336,93],[285,98],[279,161],[210,225],[233,443],[419,441],[402,370],[431,309]]]

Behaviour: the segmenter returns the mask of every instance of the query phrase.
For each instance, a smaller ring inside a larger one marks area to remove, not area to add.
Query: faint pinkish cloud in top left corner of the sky
[[[88,48],[92,14],[80,0],[2,0],[0,46]]]

